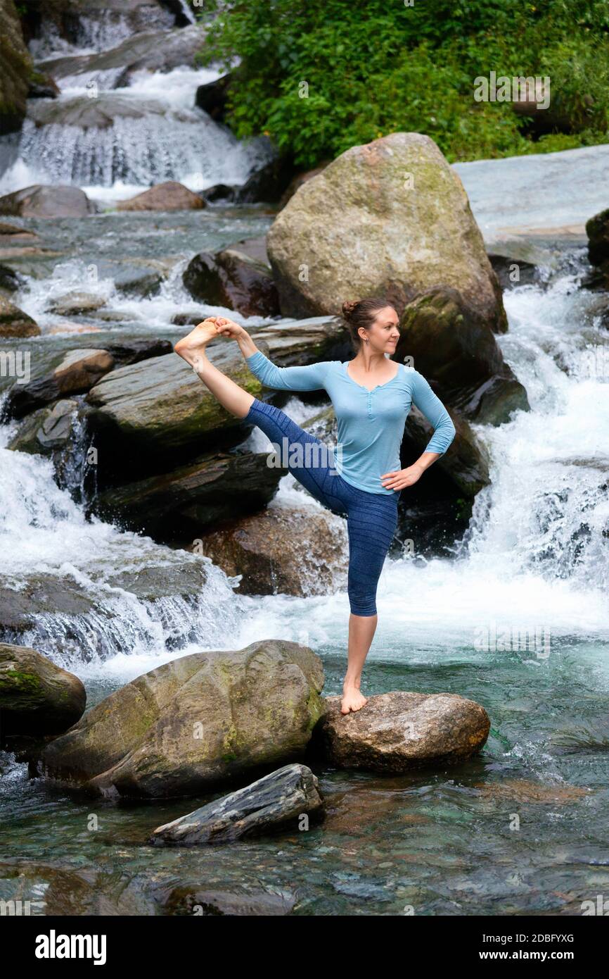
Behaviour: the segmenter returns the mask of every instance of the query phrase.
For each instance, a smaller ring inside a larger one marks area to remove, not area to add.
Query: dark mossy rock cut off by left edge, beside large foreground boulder
[[[77,676],[27,646],[0,643],[2,743],[17,734],[58,734],[82,717],[85,688]]]

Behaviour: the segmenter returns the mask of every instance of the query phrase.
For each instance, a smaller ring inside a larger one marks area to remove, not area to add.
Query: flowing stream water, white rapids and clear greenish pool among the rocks
[[[124,35],[110,26],[114,33],[108,27],[96,35],[91,28],[88,40],[118,43]],[[114,126],[111,145],[109,136],[95,153],[54,132],[57,142],[45,157],[26,126],[0,177],[3,189],[32,182],[22,178],[35,165],[44,168],[46,182],[73,181],[98,200],[128,196],[143,183],[136,161],[151,134],[165,141],[167,153],[149,143],[158,170],[147,171],[146,183],[151,172],[154,180],[188,183],[189,174],[203,173],[208,183],[242,182],[258,150],[239,146],[209,119],[196,124],[190,117],[200,83],[195,75],[185,68],[133,80],[130,98],[142,105],[150,96],[164,100],[166,131],[146,113],[139,128],[121,134]],[[180,127],[193,130],[193,142],[182,139]],[[226,141],[221,159],[200,142],[207,130]],[[116,146],[127,161],[119,175],[111,163]],[[488,215],[488,199],[485,209]],[[261,234],[270,220],[256,208],[109,212],[52,227],[23,220],[61,256],[23,259],[26,281],[16,302],[43,328],[30,342],[36,370],[42,373],[45,359],[75,344],[175,340],[176,312],[217,311],[183,291],[188,258]],[[195,804],[75,800],[29,781],[24,766],[5,756],[0,862],[27,859],[31,870],[18,878],[8,863],[0,868],[0,899],[31,898],[43,911],[154,913],[161,894],[190,882],[302,914],[523,914],[579,913],[581,901],[609,893],[609,335],[603,318],[609,298],[581,288],[582,239],[549,237],[543,244],[544,282],[505,293],[509,332],[500,337],[531,411],[499,428],[476,427],[490,452],[492,485],[478,495],[470,527],[452,552],[386,562],[366,672],[370,692],[447,690],[480,701],[492,719],[483,753],[457,769],[394,778],[322,769],[323,827],[298,838],[188,852],[152,850],[145,841],[154,826]],[[126,261],[164,263],[158,295],[134,298],[121,289],[112,264],[117,248]],[[62,317],[47,311],[47,301],[81,285],[91,262],[103,274],[87,291],[104,297],[111,317],[76,341],[62,332]],[[298,421],[315,413],[296,398],[287,410]],[[338,692],[344,590],[309,598],[239,595],[238,583],[206,559],[86,521],[82,507],[56,485],[50,461],[6,447],[14,431],[14,424],[0,428],[1,581],[22,588],[43,583],[51,594],[52,585],[73,586],[88,596],[90,605],[76,611],[50,605],[19,641],[80,676],[89,703],[176,656],[269,637],[310,644],[325,663],[326,693]],[[264,447],[260,435],[252,438]],[[294,499],[317,506],[286,477],[273,505]],[[148,593],[130,587],[134,572],[143,570]],[[99,816],[94,832],[92,812]],[[87,886],[78,876],[83,868]]]

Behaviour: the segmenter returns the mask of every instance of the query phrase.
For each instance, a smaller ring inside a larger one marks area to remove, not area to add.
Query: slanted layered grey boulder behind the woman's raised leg
[[[344,326],[328,317],[252,333],[280,366],[329,359],[348,343]],[[235,344],[219,338],[207,351],[242,388],[263,396]],[[186,465],[201,452],[236,445],[244,436],[240,419],[225,411],[174,353],[110,371],[87,401],[89,425],[105,459],[100,489],[104,480],[124,484],[166,472],[168,464]]]

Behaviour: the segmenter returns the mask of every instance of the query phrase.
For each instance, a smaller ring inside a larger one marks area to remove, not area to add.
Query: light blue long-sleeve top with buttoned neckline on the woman
[[[455,438],[455,426],[439,397],[413,367],[398,364],[394,378],[372,391],[358,384],[347,371],[349,361],[324,360],[306,367],[278,367],[260,350],[245,358],[253,374],[267,388],[279,391],[326,389],[337,421],[337,450],[332,450],[338,474],[357,489],[391,495],[384,473],[397,472],[404,425],[414,404],[427,418],[434,434],[426,452],[443,455]]]

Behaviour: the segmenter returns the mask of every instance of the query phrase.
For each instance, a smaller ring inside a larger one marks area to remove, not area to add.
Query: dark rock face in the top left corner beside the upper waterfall
[[[0,132],[4,134],[22,126],[31,75],[31,59],[13,0],[0,2],[0,64]]]

